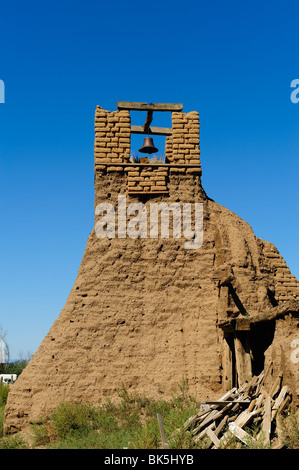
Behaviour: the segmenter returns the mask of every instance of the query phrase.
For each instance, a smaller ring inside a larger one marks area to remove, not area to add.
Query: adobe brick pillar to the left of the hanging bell
[[[95,113],[95,165],[128,162],[130,147],[130,112],[110,112],[97,106]]]

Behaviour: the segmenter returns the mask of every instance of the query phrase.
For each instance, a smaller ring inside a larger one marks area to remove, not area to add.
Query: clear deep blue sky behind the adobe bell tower
[[[93,227],[97,105],[197,110],[207,194],[299,277],[298,24],[295,0],[2,2],[0,325],[12,358],[37,350],[77,275]],[[166,114],[153,125],[170,124]]]

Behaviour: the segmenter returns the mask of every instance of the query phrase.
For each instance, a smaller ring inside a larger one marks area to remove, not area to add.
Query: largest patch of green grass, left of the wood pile
[[[191,445],[177,429],[194,414],[199,403],[179,384],[171,400],[153,400],[145,395],[119,390],[119,400],[100,406],[67,402],[50,417],[32,425],[35,447],[57,449],[154,449],[160,446],[157,413],[163,417],[166,438],[175,448]]]

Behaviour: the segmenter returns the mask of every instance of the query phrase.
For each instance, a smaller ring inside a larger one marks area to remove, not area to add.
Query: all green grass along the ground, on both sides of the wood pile
[[[157,413],[162,415],[167,443],[173,449],[204,449],[207,437],[197,444],[192,434],[182,425],[199,409],[200,403],[189,394],[182,381],[170,400],[154,400],[144,394],[128,392],[122,387],[118,400],[107,400],[101,405],[61,403],[45,419],[31,425],[28,442],[21,433],[3,436],[3,415],[7,390],[0,389],[0,449],[158,449],[160,431]],[[1,402],[2,400],[2,402]],[[279,417],[283,443],[287,448],[299,448],[299,423],[295,413],[289,409]],[[254,438],[260,427],[252,426],[246,431]],[[30,441],[30,444],[29,444]],[[252,440],[248,446],[233,435],[226,448],[265,448],[262,436]]]

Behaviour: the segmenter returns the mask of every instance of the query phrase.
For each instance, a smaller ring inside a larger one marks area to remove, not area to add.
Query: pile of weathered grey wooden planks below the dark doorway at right
[[[184,429],[192,433],[198,443],[205,440],[207,447],[225,448],[234,435],[242,443],[251,446],[261,439],[264,446],[270,447],[274,431],[274,420],[291,402],[291,393],[287,385],[282,386],[282,373],[273,379],[267,388],[265,380],[268,370],[246,381],[240,388],[232,388],[217,401],[202,401],[195,416],[189,418]],[[267,381],[268,382],[268,381]],[[260,424],[257,436],[252,437],[244,430],[252,424]],[[208,436],[209,439],[206,439]],[[282,444],[277,443],[276,448]]]

